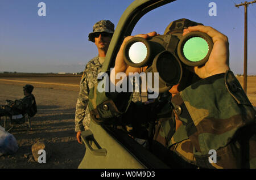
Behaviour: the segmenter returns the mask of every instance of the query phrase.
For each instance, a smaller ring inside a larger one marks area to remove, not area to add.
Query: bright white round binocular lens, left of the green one
[[[129,57],[133,63],[141,63],[147,57],[147,47],[143,42],[135,42],[130,46]]]

